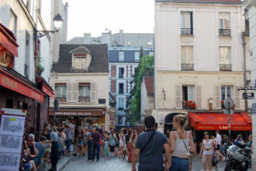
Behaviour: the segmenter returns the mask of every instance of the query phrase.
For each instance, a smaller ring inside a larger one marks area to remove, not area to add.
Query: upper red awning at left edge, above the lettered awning
[[[18,43],[16,43],[15,35],[8,28],[0,23],[0,46],[9,51],[10,54],[18,57]]]

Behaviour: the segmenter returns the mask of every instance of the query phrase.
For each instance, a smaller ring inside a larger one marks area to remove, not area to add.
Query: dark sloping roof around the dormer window
[[[88,71],[72,69],[72,52],[81,46],[90,50],[92,59]],[[57,73],[84,73],[84,72],[108,72],[108,44],[61,44],[60,58],[53,65],[53,71]]]

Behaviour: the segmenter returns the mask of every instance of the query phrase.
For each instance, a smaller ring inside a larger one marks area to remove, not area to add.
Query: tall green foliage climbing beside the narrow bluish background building
[[[133,75],[133,81],[135,83],[134,88],[131,89],[131,95],[127,100],[127,109],[131,114],[131,123],[140,120],[141,113],[141,83],[143,83],[144,76],[153,76],[154,71],[154,56],[149,56],[148,54],[143,56],[143,48],[140,50],[140,60],[139,65],[135,69]]]

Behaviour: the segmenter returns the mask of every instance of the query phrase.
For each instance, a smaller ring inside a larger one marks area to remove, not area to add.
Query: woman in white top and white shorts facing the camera
[[[214,143],[211,139],[209,139],[209,134],[205,133],[205,140],[202,141],[201,145],[201,162],[203,165],[204,171],[212,170],[212,155],[214,153]]]

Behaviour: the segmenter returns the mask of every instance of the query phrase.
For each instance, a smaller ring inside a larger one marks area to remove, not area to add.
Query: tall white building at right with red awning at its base
[[[160,129],[167,114],[179,112],[189,115],[196,130],[227,131],[223,102],[230,97],[233,117],[242,121],[231,123],[231,130],[251,130],[237,90],[244,85],[244,60],[247,74],[250,69],[241,44],[242,14],[240,0],[155,0],[153,115]],[[212,120],[206,113],[212,113]]]

